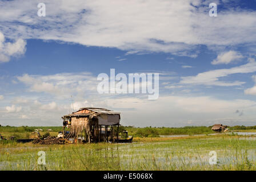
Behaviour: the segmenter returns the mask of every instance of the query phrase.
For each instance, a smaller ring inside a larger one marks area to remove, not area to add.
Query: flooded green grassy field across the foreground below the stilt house
[[[0,170],[255,170],[255,137],[134,138],[129,144],[0,143]],[[38,151],[46,165],[37,164]],[[210,151],[217,164],[210,165]]]

